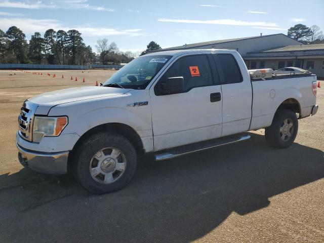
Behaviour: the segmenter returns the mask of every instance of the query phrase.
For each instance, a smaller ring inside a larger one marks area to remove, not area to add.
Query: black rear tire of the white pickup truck
[[[284,121],[287,120],[293,123],[293,130],[289,129],[291,136],[286,135],[286,139],[282,139],[281,136],[285,137],[285,134],[280,132],[280,127],[284,126]],[[265,129],[265,139],[271,147],[274,148],[287,148],[290,147],[298,132],[298,119],[296,113],[287,109],[279,109],[273,117],[272,124],[270,127]]]

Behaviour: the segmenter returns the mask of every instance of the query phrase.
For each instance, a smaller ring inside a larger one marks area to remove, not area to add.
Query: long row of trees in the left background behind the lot
[[[132,52],[120,52],[115,43],[108,45],[107,39],[98,40],[98,46],[105,45],[97,47],[100,52],[96,54],[86,46],[81,35],[75,29],[48,29],[44,36],[35,32],[27,43],[26,35],[18,27],[11,26],[6,32],[0,29],[0,63],[119,64],[130,62],[136,56]]]

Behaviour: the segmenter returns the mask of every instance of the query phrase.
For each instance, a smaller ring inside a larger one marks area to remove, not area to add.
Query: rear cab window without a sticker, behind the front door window
[[[222,85],[241,83],[243,77],[232,54],[213,54],[220,74],[223,74]]]

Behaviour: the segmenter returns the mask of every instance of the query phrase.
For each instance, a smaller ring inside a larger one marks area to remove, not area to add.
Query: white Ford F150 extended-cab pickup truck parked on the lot
[[[261,128],[271,146],[289,147],[298,119],[317,109],[311,73],[251,78],[233,50],[158,52],[136,58],[100,87],[26,100],[18,157],[38,172],[71,171],[101,194],[125,187],[144,153],[170,159],[246,140],[244,132]]]

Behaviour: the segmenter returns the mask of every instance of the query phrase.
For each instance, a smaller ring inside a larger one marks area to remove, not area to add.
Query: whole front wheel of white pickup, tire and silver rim
[[[76,178],[94,194],[124,188],[137,166],[134,146],[125,137],[114,133],[92,135],[77,149],[76,157]]]

